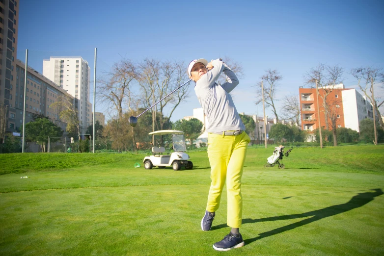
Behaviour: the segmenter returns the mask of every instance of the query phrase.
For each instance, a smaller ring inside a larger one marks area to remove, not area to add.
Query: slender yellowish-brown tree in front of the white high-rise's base
[[[67,123],[67,132],[78,134],[80,141],[80,122],[78,116],[78,109],[74,104],[74,99],[68,95],[61,95],[57,97],[57,102],[52,103],[49,108],[54,109],[60,119]]]

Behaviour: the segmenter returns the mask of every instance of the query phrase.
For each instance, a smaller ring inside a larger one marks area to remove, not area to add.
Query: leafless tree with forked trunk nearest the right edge
[[[377,102],[377,99],[374,96],[374,85],[376,84],[376,80],[381,78],[381,82],[383,81],[384,74],[381,73],[383,69],[382,68],[373,68],[373,67],[366,67],[366,68],[355,68],[351,70],[351,75],[354,76],[357,79],[357,85],[360,88],[362,92],[364,92],[364,95],[373,105],[373,124],[374,124],[374,130],[375,130],[375,142],[377,143],[377,128],[376,128],[376,114],[379,116],[379,122],[380,126],[384,128],[383,119],[381,118],[381,114],[379,111],[379,107],[383,104],[383,102],[379,103]],[[365,85],[362,85],[361,79],[365,80]],[[368,91],[370,93],[368,93]]]

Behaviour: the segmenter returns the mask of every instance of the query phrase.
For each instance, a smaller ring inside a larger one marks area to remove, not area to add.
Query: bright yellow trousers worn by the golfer
[[[237,136],[223,136],[208,133],[208,157],[211,164],[211,187],[209,189],[207,210],[219,209],[221,192],[227,182],[227,225],[240,228],[243,200],[241,177],[250,141],[247,133]]]

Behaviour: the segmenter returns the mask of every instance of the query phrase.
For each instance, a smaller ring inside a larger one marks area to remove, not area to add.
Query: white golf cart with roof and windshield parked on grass
[[[193,168],[193,164],[189,161],[190,156],[186,153],[184,132],[180,130],[158,130],[148,133],[149,135],[172,135],[172,153],[165,153],[164,147],[153,147],[152,155],[145,156],[143,163],[145,169],[159,167],[164,169],[167,166],[172,166],[174,171],[179,171],[181,167],[187,170]]]

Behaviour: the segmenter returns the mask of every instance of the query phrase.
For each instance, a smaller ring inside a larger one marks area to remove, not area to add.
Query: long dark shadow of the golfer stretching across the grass
[[[333,216],[339,213],[343,213],[358,207],[361,207],[363,205],[368,204],[372,200],[375,199],[375,197],[383,195],[383,191],[381,188],[371,189],[374,192],[365,192],[365,193],[358,193],[356,196],[352,197],[350,201],[348,201],[345,204],[341,205],[332,205],[323,209],[314,210],[314,211],[308,211],[304,213],[299,214],[290,214],[290,215],[282,215],[282,216],[275,216],[275,217],[268,217],[268,218],[262,218],[262,219],[243,219],[242,224],[247,223],[256,223],[256,222],[263,222],[263,221],[277,221],[277,220],[290,220],[290,219],[297,219],[297,218],[304,218],[304,217],[311,217],[308,219],[301,220],[296,223],[292,223],[290,225],[280,227],[274,230],[270,230],[264,233],[260,233],[259,236],[254,238],[249,238],[244,240],[246,244],[249,244],[251,242],[254,242],[256,240],[262,239],[264,237],[268,237],[274,234],[282,233],[288,230],[293,230],[296,228],[299,228],[303,225],[312,223],[314,221],[321,220],[323,218]],[[220,224],[218,226],[212,227],[212,230],[219,229],[226,227],[225,224]]]

